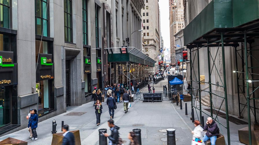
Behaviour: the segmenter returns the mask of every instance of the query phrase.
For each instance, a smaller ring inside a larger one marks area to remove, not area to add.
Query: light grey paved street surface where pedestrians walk
[[[167,84],[167,80],[161,81],[163,85]],[[160,85],[161,83],[155,84]],[[185,82],[185,86],[187,83]],[[29,138],[29,132],[27,128],[19,130],[17,132],[5,135],[0,138],[12,137],[18,140],[28,142],[28,145],[50,145],[52,141],[52,121],[57,121],[57,133],[61,132],[61,122],[70,126],[70,130],[79,130],[82,145],[98,145],[99,135],[98,129],[108,129],[108,134],[111,134],[107,121],[110,119],[108,107],[106,105],[106,99],[103,103],[103,113],[101,115],[101,124],[96,125],[95,110],[93,102],[86,103],[81,106],[67,107],[67,112],[44,120],[38,123],[37,134],[38,140],[31,140]],[[163,102],[143,102],[135,100],[131,103],[131,108],[128,113],[124,113],[123,103],[118,103],[115,110],[114,121],[115,125],[119,126],[119,133],[122,140],[126,141],[124,145],[129,144],[127,139],[128,133],[132,129],[141,129],[142,145],[165,145],[167,144],[165,129],[176,129],[175,137],[176,144],[178,145],[190,145],[191,144],[191,130],[194,128],[192,121],[190,120],[191,102],[187,102],[188,115],[185,115],[185,103],[183,102],[182,110],[176,103],[171,101]],[[206,107],[203,107],[206,108]],[[68,113],[82,112],[81,116],[67,116]],[[205,111],[204,111],[205,112]],[[208,113],[209,114],[209,113]],[[197,115],[195,114],[195,119]],[[204,114],[204,119],[206,119]],[[218,117],[220,121],[226,122],[226,119]],[[230,123],[231,144],[242,145],[238,141],[238,129],[246,127],[247,125],[236,125]],[[220,128],[222,133],[227,136],[226,129]],[[109,139],[108,139],[109,140]]]

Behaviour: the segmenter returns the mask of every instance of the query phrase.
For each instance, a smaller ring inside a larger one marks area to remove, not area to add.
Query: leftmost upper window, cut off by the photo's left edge
[[[10,28],[10,1],[0,1],[0,27]]]

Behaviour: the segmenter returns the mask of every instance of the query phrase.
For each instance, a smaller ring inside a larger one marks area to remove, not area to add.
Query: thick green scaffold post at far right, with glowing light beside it
[[[222,35],[222,34],[221,34]],[[222,37],[222,36],[221,36]],[[252,145],[251,137],[251,117],[250,117],[250,97],[249,97],[249,83],[248,78],[248,59],[247,59],[247,40],[246,31],[244,32],[244,47],[245,47],[245,80],[246,80],[246,99],[247,99],[247,118],[248,118],[248,132],[249,132],[249,145]],[[226,114],[227,115],[227,114]]]

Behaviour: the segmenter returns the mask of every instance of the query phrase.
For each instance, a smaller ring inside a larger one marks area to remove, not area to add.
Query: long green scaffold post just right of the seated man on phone
[[[224,42],[223,42],[223,33],[221,33],[221,50],[222,50],[222,67],[223,67],[223,78],[224,78],[224,93],[225,93],[228,145],[230,145],[230,132],[229,132],[229,120],[228,120],[228,94],[227,94],[227,79],[226,79],[226,65],[225,65],[225,50],[224,50]],[[246,57],[247,57],[247,55],[246,55]]]

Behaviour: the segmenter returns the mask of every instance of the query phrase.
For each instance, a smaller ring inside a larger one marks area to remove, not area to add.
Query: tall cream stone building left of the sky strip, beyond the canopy
[[[142,52],[152,59],[158,59],[160,54],[160,11],[158,0],[145,0],[141,10],[143,22],[144,48]],[[158,65],[156,63],[155,65]],[[153,70],[155,71],[155,70]]]

